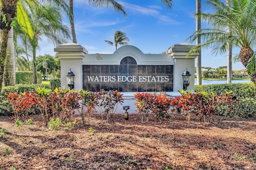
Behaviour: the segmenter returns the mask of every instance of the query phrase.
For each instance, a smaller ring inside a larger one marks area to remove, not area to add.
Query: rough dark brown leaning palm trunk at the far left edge
[[[0,45],[0,92],[2,91],[8,33],[9,33],[8,29],[2,29],[2,37],[1,37],[1,45]]]

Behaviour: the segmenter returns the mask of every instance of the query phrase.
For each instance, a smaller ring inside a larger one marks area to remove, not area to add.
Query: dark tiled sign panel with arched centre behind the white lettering
[[[132,57],[125,57],[120,65],[83,65],[83,89],[173,92],[173,65],[137,65]]]

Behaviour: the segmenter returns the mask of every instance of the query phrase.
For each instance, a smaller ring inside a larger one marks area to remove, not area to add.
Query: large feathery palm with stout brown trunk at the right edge
[[[199,36],[204,41],[190,50],[212,49],[213,53],[226,53],[228,47],[240,47],[238,59],[246,67],[256,45],[256,0],[230,0],[226,6],[220,0],[207,0],[206,5],[214,9],[214,14],[200,13],[196,17],[208,21],[212,27],[200,29],[191,35],[190,41]],[[256,70],[251,72],[250,78],[256,84]]]

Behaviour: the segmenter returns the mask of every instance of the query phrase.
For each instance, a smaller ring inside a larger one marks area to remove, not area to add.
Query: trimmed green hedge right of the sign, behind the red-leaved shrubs
[[[214,92],[216,94],[225,94],[232,91],[233,96],[238,98],[255,98],[256,88],[254,83],[233,83],[233,84],[208,84],[196,85],[195,92]]]

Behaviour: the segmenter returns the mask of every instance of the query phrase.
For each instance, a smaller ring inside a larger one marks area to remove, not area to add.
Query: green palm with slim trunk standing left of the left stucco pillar
[[[32,28],[34,35],[30,41],[33,48],[33,76],[34,84],[37,84],[36,74],[36,49],[38,41],[45,36],[48,41],[54,45],[68,42],[70,39],[70,31],[67,25],[62,24],[61,10],[56,6],[44,6],[42,8],[33,8],[32,11]]]

